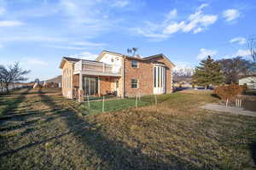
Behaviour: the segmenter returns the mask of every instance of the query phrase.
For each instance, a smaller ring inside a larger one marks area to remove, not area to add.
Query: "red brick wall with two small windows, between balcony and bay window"
[[[153,94],[153,65],[137,60],[138,68],[132,68],[131,61],[125,59],[125,96]],[[131,79],[138,80],[138,88],[131,88]]]

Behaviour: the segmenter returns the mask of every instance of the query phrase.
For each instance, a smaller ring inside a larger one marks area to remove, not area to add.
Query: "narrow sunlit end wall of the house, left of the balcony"
[[[68,61],[62,68],[62,95],[73,99],[73,63]]]

